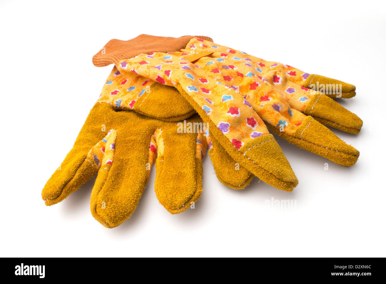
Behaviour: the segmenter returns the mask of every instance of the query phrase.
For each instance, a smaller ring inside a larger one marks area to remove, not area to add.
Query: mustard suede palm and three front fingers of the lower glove
[[[190,121],[201,122],[197,116]],[[177,135],[175,122],[163,122],[135,112],[116,110],[107,103],[96,103],[61,169],[54,172],[43,188],[46,205],[63,200],[97,172],[92,161],[85,159],[88,151],[105,137],[102,125],[106,131],[117,130],[112,164],[100,167],[91,193],[91,213],[102,225],[108,228],[120,225],[137,207],[147,184],[150,140],[159,128],[166,134],[163,159],[168,165],[158,164],[157,198],[171,213],[186,210],[189,206],[185,204],[199,198],[202,167],[194,154],[197,134]],[[165,184],[168,176],[174,178]]]

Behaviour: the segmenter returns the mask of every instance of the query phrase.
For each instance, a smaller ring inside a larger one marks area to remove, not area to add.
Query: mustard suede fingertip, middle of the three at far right
[[[312,115],[319,122],[339,130],[358,134],[363,122],[355,113],[345,109],[332,98],[322,93],[316,94],[306,109],[305,115]]]

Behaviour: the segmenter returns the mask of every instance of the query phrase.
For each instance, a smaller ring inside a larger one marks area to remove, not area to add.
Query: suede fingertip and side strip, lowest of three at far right
[[[315,118],[308,116],[293,136],[280,132],[268,125],[275,134],[296,146],[325,157],[341,166],[352,166],[359,157],[359,151],[339,139]]]

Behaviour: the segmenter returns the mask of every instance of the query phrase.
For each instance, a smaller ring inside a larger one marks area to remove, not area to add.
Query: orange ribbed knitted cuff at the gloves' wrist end
[[[193,37],[213,41],[213,39],[206,36],[185,35],[182,37],[159,37],[147,34],[138,35],[128,41],[112,39],[93,56],[93,64],[97,67],[110,64],[118,65],[119,61],[135,57],[142,53],[179,51],[185,48]]]

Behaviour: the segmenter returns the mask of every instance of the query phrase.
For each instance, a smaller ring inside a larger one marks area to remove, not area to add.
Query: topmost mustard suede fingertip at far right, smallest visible
[[[323,92],[330,98],[352,98],[356,95],[354,85],[317,74],[310,74],[301,85],[315,91],[321,91],[324,88]]]

